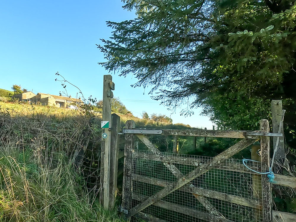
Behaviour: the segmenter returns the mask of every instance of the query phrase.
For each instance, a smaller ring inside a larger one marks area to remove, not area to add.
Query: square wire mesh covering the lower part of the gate
[[[213,159],[133,150],[131,208],[176,182],[180,175],[186,175]],[[249,167],[263,172],[267,170],[261,163],[249,163]],[[241,160],[224,159],[131,220],[270,221],[270,192],[266,175],[247,170]]]

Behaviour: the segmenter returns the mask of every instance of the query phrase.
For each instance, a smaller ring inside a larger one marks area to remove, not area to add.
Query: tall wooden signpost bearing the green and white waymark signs
[[[102,146],[101,146],[101,204],[104,209],[109,209],[109,189],[110,189],[110,146],[111,133],[109,131],[111,123],[111,99],[114,83],[111,75],[104,75],[103,80],[103,110],[102,110]],[[103,126],[104,121],[104,126]],[[105,122],[109,121],[109,123]]]

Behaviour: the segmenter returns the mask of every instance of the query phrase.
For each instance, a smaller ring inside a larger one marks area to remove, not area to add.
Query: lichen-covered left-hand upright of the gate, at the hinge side
[[[125,129],[136,128],[136,123],[133,120],[126,121]],[[125,146],[124,146],[124,168],[123,168],[123,189],[122,189],[122,203],[121,207],[125,210],[131,208],[131,190],[132,188],[132,150],[134,149],[134,134],[126,133],[125,134]],[[127,215],[122,213],[123,218],[127,218]],[[130,219],[130,218],[129,218]]]

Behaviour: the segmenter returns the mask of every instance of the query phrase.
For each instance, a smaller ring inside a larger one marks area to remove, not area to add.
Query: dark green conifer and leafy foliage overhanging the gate
[[[135,75],[134,87],[153,86],[172,109],[187,103],[183,114],[201,106],[220,128],[256,130],[271,99],[283,99],[296,129],[295,1],[125,3],[137,17],[107,22],[114,32],[98,46],[107,70]]]

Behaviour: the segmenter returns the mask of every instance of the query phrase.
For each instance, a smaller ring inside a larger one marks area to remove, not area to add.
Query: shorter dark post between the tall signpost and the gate
[[[110,147],[110,193],[109,208],[114,207],[117,192],[117,171],[118,171],[118,133],[120,132],[120,116],[111,115],[111,147]]]

